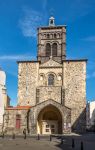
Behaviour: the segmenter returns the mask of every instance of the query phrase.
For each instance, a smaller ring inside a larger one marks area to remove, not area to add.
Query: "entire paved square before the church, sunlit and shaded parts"
[[[74,139],[74,140],[72,140]],[[74,141],[72,148],[72,141]],[[62,143],[61,143],[62,142]],[[81,144],[83,143],[83,145]],[[81,149],[83,146],[83,149]],[[0,138],[0,150],[95,150],[95,134],[86,134],[82,136],[68,135],[61,137],[53,137],[50,141],[49,137],[5,137]]]

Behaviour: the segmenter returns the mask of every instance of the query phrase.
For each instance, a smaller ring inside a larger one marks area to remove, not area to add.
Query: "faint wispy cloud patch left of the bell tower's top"
[[[43,4],[46,7],[46,1]],[[37,27],[46,23],[46,15],[29,8],[23,9],[23,17],[19,20],[19,26],[25,37],[36,37]]]

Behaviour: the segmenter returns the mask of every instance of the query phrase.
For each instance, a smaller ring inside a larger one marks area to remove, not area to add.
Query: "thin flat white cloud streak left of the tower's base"
[[[0,61],[16,61],[16,60],[32,60],[35,59],[34,56],[29,54],[26,55],[3,55],[0,56]]]

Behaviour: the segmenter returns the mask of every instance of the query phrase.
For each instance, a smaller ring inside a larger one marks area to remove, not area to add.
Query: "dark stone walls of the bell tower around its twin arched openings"
[[[41,63],[49,60],[49,56],[46,56],[46,43],[50,43],[51,46],[57,43],[57,57],[53,58],[62,62],[62,59],[66,58],[66,26],[38,28],[38,60]]]

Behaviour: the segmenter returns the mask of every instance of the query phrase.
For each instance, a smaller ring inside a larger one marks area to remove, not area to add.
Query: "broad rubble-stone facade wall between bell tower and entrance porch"
[[[36,110],[38,104],[43,103],[44,105],[46,101],[53,100],[62,104],[61,107],[71,109],[72,129],[84,130],[86,62],[66,60],[63,66],[55,62],[53,64],[55,67],[52,66],[51,60],[43,65],[39,65],[39,62],[19,63],[19,105],[35,106]],[[54,86],[48,86],[48,74],[50,73],[54,74]],[[61,75],[61,80],[58,78],[59,75]]]

